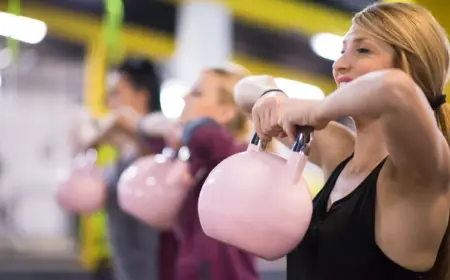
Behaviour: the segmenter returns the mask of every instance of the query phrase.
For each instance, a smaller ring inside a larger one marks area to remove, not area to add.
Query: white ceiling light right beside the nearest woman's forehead
[[[336,60],[341,56],[344,38],[331,33],[319,33],[311,37],[310,45],[313,51],[326,59]]]

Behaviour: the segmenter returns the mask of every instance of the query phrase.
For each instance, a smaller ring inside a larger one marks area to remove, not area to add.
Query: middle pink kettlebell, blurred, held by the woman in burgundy
[[[122,173],[118,199],[125,212],[160,230],[172,229],[192,185],[182,149],[165,148]]]

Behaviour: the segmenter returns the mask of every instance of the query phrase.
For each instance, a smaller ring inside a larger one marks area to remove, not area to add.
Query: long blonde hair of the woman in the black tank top
[[[444,94],[449,73],[449,42],[444,29],[427,9],[410,3],[377,3],[357,13],[353,24],[394,48],[394,67],[408,73],[428,100]],[[450,106],[443,104],[434,112],[450,144]],[[447,231],[432,279],[450,279],[448,243]]]

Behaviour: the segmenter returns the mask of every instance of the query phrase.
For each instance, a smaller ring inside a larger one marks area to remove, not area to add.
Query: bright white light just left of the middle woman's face
[[[161,111],[169,119],[180,117],[184,108],[184,96],[188,88],[177,80],[169,80],[161,86]]]

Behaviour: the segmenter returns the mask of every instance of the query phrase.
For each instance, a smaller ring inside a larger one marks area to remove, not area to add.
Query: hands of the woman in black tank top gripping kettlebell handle
[[[252,110],[256,132],[265,141],[286,135],[295,141],[301,127],[311,126],[315,130],[321,130],[331,121],[322,117],[321,102],[283,95],[262,97]]]

